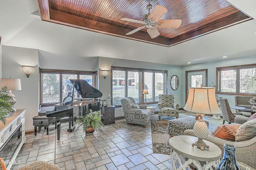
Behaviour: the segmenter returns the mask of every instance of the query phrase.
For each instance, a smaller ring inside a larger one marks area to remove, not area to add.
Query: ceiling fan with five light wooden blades
[[[145,14],[143,16],[143,21],[139,20],[133,20],[129,18],[122,18],[121,20],[124,21],[130,21],[130,22],[136,22],[140,24],[144,24],[144,26],[141,26],[139,28],[136,28],[135,30],[132,30],[131,32],[128,32],[125,35],[133,34],[139,30],[142,30],[143,28],[148,28],[147,32],[149,36],[153,39],[160,35],[157,28],[179,28],[181,25],[181,20],[160,20],[164,14],[166,14],[167,9],[164,8],[164,6],[156,5],[155,8],[150,13],[150,10],[152,9],[152,5],[149,3],[146,6],[146,9],[148,10],[148,14]]]

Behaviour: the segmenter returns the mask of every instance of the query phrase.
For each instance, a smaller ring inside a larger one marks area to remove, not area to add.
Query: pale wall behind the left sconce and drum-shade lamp
[[[34,66],[29,78],[21,65]],[[12,91],[17,100],[17,109],[26,109],[26,130],[34,129],[32,117],[38,115],[38,50],[2,46],[2,78],[16,78],[21,81],[21,90]]]

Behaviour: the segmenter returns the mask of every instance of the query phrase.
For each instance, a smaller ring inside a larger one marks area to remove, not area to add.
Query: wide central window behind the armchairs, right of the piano
[[[136,103],[145,103],[142,89],[148,89],[147,103],[158,102],[158,95],[167,92],[167,71],[112,67],[112,105],[121,105],[120,99],[132,97]]]

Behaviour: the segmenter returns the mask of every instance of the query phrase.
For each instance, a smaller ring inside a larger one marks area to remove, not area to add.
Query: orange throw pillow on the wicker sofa
[[[236,132],[241,125],[218,125],[210,135],[224,140],[235,141]]]

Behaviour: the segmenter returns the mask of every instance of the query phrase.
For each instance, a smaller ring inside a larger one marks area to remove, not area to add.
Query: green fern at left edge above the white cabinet
[[[0,90],[0,121],[4,123],[4,125],[6,123],[6,113],[12,112],[12,104],[9,102],[10,99],[12,99],[12,97],[8,95],[7,87],[4,86]]]

